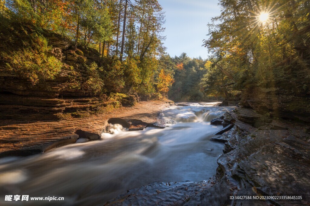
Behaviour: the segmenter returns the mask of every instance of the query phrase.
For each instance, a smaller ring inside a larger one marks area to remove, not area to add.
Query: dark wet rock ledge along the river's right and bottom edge
[[[246,122],[245,122],[246,121]],[[310,134],[307,126],[271,120],[238,107],[224,115],[233,128],[218,169],[207,183],[150,183],[106,205],[309,205]],[[207,178],[207,177],[206,177]],[[230,200],[229,195],[302,195],[302,200]]]

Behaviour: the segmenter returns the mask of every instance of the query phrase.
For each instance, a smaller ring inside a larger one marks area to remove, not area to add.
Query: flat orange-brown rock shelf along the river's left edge
[[[27,156],[53,147],[74,143],[80,129],[100,135],[110,118],[139,119],[157,123],[158,114],[172,101],[140,101],[133,107],[120,107],[104,114],[65,120],[2,120],[0,156]]]

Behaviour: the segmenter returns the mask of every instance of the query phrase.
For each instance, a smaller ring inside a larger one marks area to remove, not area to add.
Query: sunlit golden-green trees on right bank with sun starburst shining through
[[[222,13],[209,24],[210,38],[204,45],[216,68],[236,80],[236,89],[273,82],[274,68],[309,55],[308,0],[224,0],[220,6]],[[263,22],[259,17],[264,13]]]

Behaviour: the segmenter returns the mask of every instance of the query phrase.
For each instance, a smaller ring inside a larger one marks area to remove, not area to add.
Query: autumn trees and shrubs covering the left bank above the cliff
[[[1,0],[0,6],[2,60],[33,85],[57,78],[61,69],[83,70],[71,86],[94,95],[124,88],[166,95],[173,82],[160,63],[166,55],[165,16],[157,0]],[[55,57],[51,33],[69,40],[70,46],[61,48],[65,58]],[[86,58],[89,49],[100,59]],[[69,55],[78,64],[66,62]]]

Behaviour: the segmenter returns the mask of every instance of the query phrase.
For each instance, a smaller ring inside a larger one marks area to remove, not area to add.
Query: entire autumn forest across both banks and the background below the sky
[[[166,53],[157,0],[0,0],[1,59],[33,85],[66,70],[66,85],[91,95],[133,91],[199,101],[254,87],[309,91],[309,73],[293,74],[309,65],[309,0],[219,6],[203,40],[210,57],[203,60]],[[55,48],[51,34],[70,45]]]

